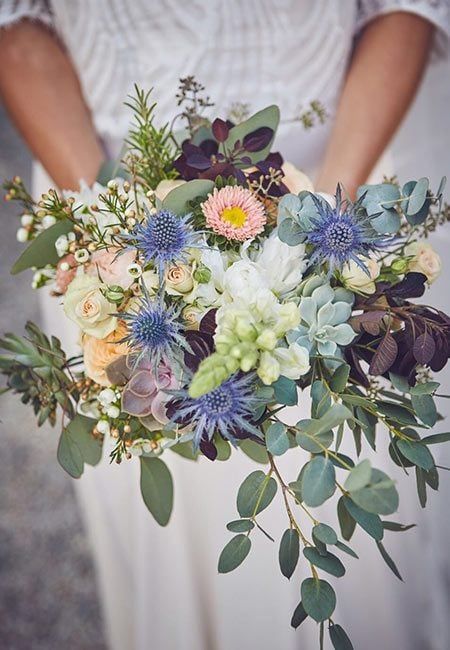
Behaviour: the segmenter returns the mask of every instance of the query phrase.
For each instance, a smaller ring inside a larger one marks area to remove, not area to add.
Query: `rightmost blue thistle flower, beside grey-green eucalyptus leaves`
[[[343,201],[341,188],[336,190],[336,207],[311,194],[317,217],[309,217],[312,228],[306,232],[306,242],[314,248],[310,264],[327,263],[329,274],[342,270],[344,264],[355,262],[368,275],[369,271],[359,256],[385,248],[393,242],[392,237],[380,235],[373,228],[370,217],[362,208],[361,197],[355,203]]]

